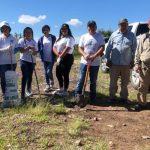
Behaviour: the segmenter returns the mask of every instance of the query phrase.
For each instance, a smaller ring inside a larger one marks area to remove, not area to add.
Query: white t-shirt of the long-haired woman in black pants
[[[54,47],[57,48],[59,53],[61,53],[66,47],[70,47],[71,49],[67,53],[72,54],[74,44],[75,44],[74,38],[68,36],[61,38],[59,41],[56,41]]]

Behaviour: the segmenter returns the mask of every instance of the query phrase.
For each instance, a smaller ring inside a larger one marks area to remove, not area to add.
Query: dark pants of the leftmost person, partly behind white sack
[[[0,65],[0,78],[1,78],[1,88],[2,88],[3,95],[5,94],[5,89],[6,89],[5,72],[10,70],[15,71],[16,67],[17,64],[13,64],[12,69],[11,69],[11,64]]]

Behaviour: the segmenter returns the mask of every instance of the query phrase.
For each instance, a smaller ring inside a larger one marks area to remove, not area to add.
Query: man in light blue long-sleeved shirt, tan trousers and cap
[[[128,20],[119,20],[119,30],[112,33],[105,57],[107,65],[110,67],[110,101],[116,102],[118,78],[121,78],[120,102],[126,103],[128,99],[128,82],[130,78],[130,68],[133,67],[137,41],[135,35],[128,31]]]

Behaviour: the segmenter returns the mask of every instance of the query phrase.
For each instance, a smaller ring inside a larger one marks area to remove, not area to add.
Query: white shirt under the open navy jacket
[[[52,38],[50,36],[43,37],[43,48],[44,48],[44,50],[43,50],[44,61],[50,62],[51,61],[50,55],[51,55],[51,51],[52,51]]]

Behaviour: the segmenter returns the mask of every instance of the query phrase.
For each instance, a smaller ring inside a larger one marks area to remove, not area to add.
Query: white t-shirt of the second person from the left
[[[30,41],[28,41],[22,38],[18,41],[18,47],[25,48],[27,46],[33,46],[35,48],[35,51],[38,51],[37,43],[35,40],[31,39]],[[32,58],[33,58],[33,63],[36,63],[35,56],[32,55]],[[25,53],[20,53],[20,59],[32,63],[31,54],[29,53],[29,51]]]

